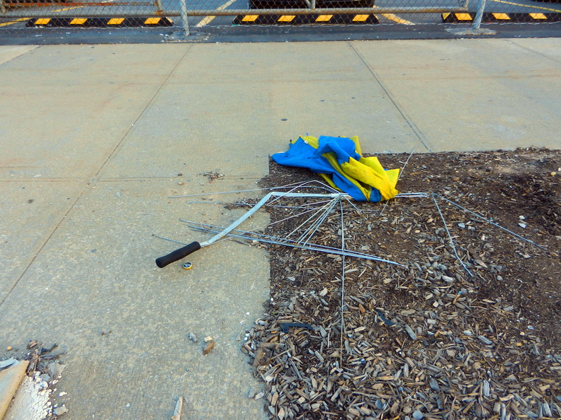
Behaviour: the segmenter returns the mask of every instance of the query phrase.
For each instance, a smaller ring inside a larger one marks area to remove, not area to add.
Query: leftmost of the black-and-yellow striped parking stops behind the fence
[[[170,18],[36,18],[30,19],[27,27],[40,26],[48,28],[72,28],[86,26],[88,28],[126,28],[139,26],[173,26]]]

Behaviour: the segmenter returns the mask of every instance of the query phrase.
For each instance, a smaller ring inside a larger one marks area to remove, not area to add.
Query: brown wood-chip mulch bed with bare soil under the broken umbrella
[[[560,418],[560,168],[560,151],[536,148],[413,155],[397,188],[436,193],[438,207],[432,195],[344,202],[344,231],[337,206],[312,240],[341,247],[343,233],[346,249],[404,267],[260,244],[271,301],[242,351],[271,419]],[[261,184],[312,177],[271,161]]]

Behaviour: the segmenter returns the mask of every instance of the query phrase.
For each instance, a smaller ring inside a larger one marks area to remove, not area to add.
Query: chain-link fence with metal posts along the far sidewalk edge
[[[560,0],[557,0],[560,1]],[[547,0],[0,0],[0,36],[22,28],[557,23]]]

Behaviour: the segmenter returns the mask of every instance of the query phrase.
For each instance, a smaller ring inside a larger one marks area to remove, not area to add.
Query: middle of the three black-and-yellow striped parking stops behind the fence
[[[234,18],[234,25],[371,25],[378,23],[373,14],[367,15],[239,15]]]

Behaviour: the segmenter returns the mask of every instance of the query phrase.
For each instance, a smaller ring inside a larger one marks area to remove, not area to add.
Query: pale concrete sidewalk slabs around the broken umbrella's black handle
[[[0,47],[0,115],[0,359],[65,346],[67,419],[166,419],[179,395],[186,419],[259,419],[237,339],[268,299],[266,253],[223,242],[158,269],[176,244],[152,234],[202,240],[179,218],[239,214],[167,197],[255,188],[307,133],[561,148],[561,40]]]

